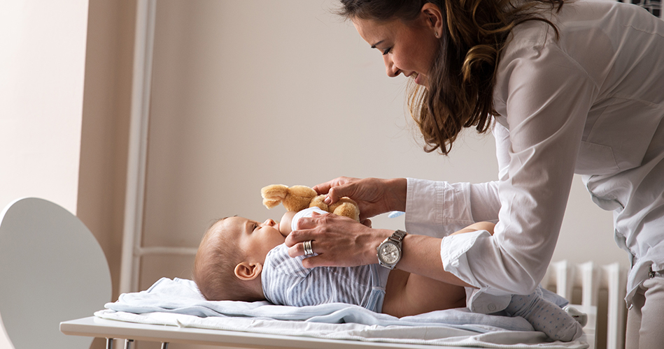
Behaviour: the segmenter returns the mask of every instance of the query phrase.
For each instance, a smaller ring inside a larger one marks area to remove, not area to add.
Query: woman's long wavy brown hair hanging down
[[[463,128],[485,133],[497,115],[493,106],[495,71],[507,36],[518,24],[541,17],[536,6],[560,10],[564,0],[341,0],[339,15],[346,18],[409,24],[425,3],[438,6],[446,26],[439,54],[428,72],[428,89],[411,84],[407,97],[427,152],[448,154]]]

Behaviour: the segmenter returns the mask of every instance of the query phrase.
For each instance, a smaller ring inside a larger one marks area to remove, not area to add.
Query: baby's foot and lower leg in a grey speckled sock
[[[539,289],[530,295],[512,296],[505,311],[509,315],[525,318],[532,327],[544,332],[551,339],[568,342],[583,334],[581,324],[560,306],[542,298],[542,292]]]

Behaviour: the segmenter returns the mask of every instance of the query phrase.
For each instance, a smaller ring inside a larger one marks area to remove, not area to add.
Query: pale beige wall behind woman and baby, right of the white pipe
[[[488,181],[493,138],[472,132],[451,156],[425,154],[404,116],[404,77],[334,1],[176,1],[157,6],[146,246],[197,247],[212,218],[281,218],[260,188],[340,175]],[[402,228],[402,218],[374,226]],[[621,261],[609,212],[575,181],[554,260]],[[192,258],[143,258],[141,288],[189,277]]]

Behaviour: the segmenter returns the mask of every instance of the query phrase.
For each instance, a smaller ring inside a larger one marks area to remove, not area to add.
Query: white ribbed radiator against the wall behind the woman
[[[611,265],[595,265],[585,262],[573,265],[567,260],[552,262],[542,280],[542,286],[555,290],[558,295],[570,300],[573,304],[597,306],[598,309],[607,309],[606,315],[598,311],[598,335],[596,343],[603,348],[604,341],[599,336],[606,334],[606,348],[618,349],[625,346],[625,323],[627,309],[625,304],[627,270],[618,263]],[[574,298],[574,290],[581,290],[581,299]],[[600,292],[606,292],[607,297],[600,304]],[[606,323],[605,328],[600,325]],[[600,346],[598,346],[600,348]]]

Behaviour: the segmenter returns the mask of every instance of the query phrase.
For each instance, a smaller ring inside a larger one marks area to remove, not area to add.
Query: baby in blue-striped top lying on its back
[[[378,264],[359,267],[302,267],[304,256],[290,258],[285,237],[297,221],[318,207],[288,211],[277,223],[242,217],[222,218],[204,235],[195,258],[194,281],[208,300],[308,306],[343,302],[401,318],[466,305],[465,288]],[[493,223],[476,223],[455,232],[487,230]],[[435,292],[432,292],[435,290]],[[514,296],[509,315],[519,315],[552,339],[572,341],[581,325],[559,306],[539,297]],[[542,316],[556,319],[542,322]]]

